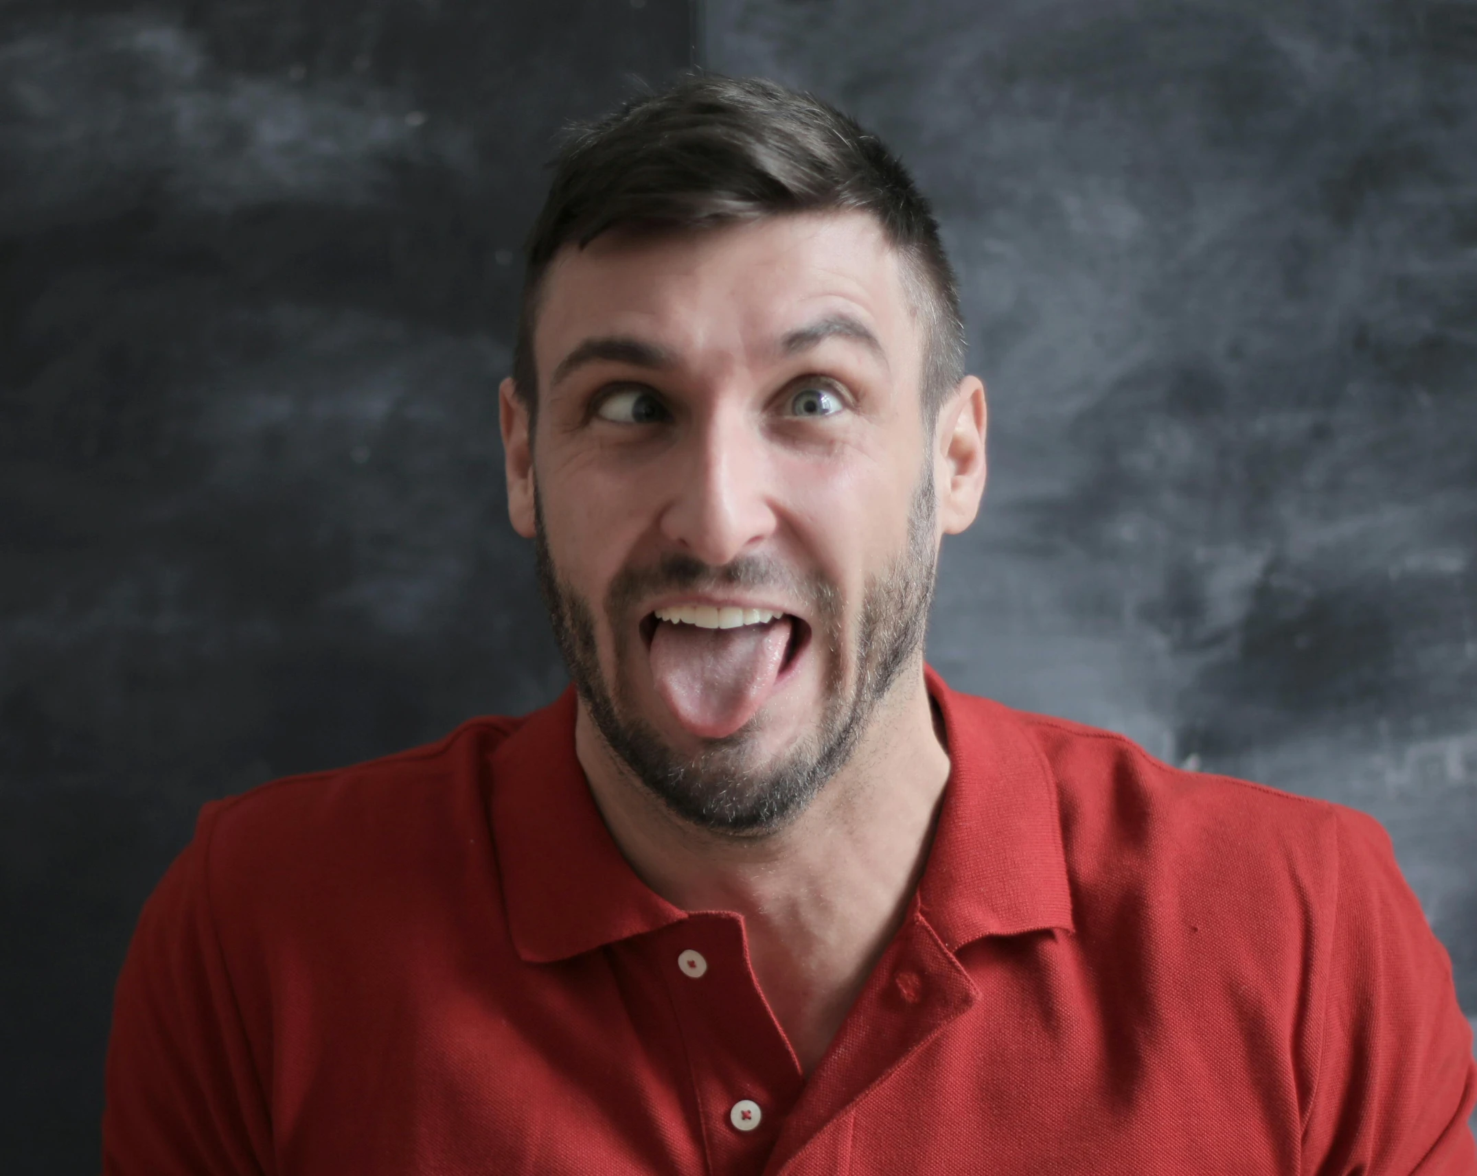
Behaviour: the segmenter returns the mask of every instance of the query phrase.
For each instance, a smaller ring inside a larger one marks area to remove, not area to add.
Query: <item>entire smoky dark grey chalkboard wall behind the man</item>
[[[518,245],[558,127],[694,61],[939,211],[993,431],[933,663],[1372,813],[1477,1015],[1477,3],[9,0],[6,1173],[96,1170],[202,802],[563,686]]]

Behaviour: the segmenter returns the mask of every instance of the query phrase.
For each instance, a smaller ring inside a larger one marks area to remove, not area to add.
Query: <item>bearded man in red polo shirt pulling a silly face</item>
[[[586,129],[501,390],[573,688],[207,805],[118,987],[115,1173],[1471,1173],[1369,818],[922,660],[985,399],[877,140]]]

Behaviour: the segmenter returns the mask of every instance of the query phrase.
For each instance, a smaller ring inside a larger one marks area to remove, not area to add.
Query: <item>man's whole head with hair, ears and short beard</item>
[[[589,718],[681,817],[772,829],[916,678],[984,394],[902,167],[690,78],[563,152],[502,389],[510,513]]]

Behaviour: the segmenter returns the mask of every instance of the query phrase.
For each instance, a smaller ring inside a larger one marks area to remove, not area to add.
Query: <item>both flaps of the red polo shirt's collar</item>
[[[1072,929],[1056,786],[1012,711],[959,694],[925,669],[951,770],[919,883],[950,950],[984,935]],[[529,963],[570,959],[687,913],[622,855],[575,755],[576,696],[530,714],[492,755],[489,816],[508,931]]]

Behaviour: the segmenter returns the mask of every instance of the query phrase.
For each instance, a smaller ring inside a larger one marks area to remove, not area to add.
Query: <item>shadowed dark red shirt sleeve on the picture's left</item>
[[[208,811],[143,907],[114,997],[105,1176],[267,1176],[270,1120],[207,878]]]

